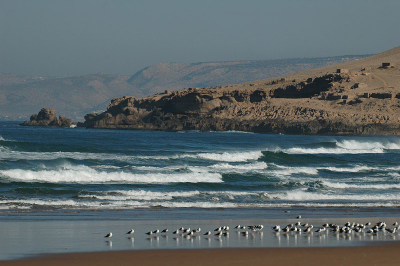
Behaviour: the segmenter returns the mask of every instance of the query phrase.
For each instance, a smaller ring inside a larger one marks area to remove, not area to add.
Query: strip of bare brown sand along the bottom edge
[[[394,242],[367,247],[117,251],[50,255],[0,265],[399,265],[399,248]]]

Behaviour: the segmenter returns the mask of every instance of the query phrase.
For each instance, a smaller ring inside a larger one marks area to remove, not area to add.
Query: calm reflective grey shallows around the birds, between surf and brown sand
[[[208,248],[260,248],[260,247],[333,247],[364,246],[376,241],[398,241],[398,233],[378,234],[362,233],[317,233],[324,223],[346,222],[377,223],[385,221],[391,225],[400,222],[400,214],[392,210],[390,217],[377,218],[380,210],[357,212],[325,211],[326,216],[318,215],[318,210],[102,210],[102,211],[48,211],[48,212],[2,212],[0,230],[3,241],[0,242],[0,260],[18,259],[26,256],[51,253],[94,252],[116,250],[148,249],[208,249]],[[152,212],[152,213],[151,213]],[[258,216],[256,216],[258,213]],[[330,213],[330,215],[328,215]],[[301,214],[302,218],[296,216]],[[149,218],[152,217],[152,218]],[[158,218],[155,218],[158,217]],[[169,217],[169,218],[168,218]],[[186,217],[186,218],[185,218]],[[200,217],[212,217],[201,219]],[[237,218],[240,217],[240,218]],[[247,218],[246,218],[247,217]],[[254,218],[259,217],[259,218]],[[269,217],[269,218],[268,218]],[[276,218],[280,217],[280,218]],[[309,223],[314,225],[312,233],[275,233],[271,227],[282,227],[289,223]],[[236,230],[236,225],[264,225],[261,231]],[[227,225],[228,236],[215,236],[214,229]],[[194,236],[173,235],[180,227],[201,228]],[[391,226],[388,226],[388,228]],[[168,228],[167,234],[147,236],[150,230],[160,231]],[[126,232],[134,229],[132,235]],[[211,236],[204,236],[211,231]],[[248,231],[248,235],[243,235]],[[329,231],[329,230],[328,230]],[[113,236],[104,236],[112,232]]]

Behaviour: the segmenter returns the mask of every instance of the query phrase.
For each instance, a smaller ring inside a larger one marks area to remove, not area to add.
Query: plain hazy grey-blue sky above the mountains
[[[0,73],[379,53],[400,45],[399,14],[399,0],[0,0]]]

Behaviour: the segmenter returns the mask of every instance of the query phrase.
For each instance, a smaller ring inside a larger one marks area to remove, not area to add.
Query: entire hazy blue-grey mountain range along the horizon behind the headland
[[[0,120],[26,120],[41,108],[76,120],[100,112],[112,98],[144,97],[165,90],[211,87],[279,77],[368,55],[263,61],[159,63],[132,76],[105,73],[78,77],[0,74]]]

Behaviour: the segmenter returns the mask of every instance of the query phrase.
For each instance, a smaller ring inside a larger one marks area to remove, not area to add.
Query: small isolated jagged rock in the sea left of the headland
[[[57,119],[56,111],[53,108],[42,108],[37,115],[32,115],[30,121],[25,121],[21,126],[46,126],[46,127],[70,127],[72,121],[69,118],[60,117]]]

